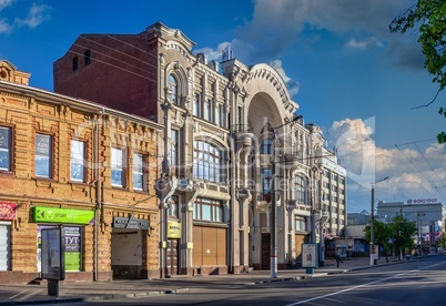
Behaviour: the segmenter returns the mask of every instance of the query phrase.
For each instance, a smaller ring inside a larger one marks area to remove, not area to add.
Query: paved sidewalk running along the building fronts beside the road
[[[395,262],[398,263],[398,262]],[[386,265],[385,258],[377,262],[377,266]],[[389,258],[388,264],[394,264]],[[113,282],[59,282],[59,296],[49,296],[48,286],[44,285],[1,285],[0,305],[31,305],[68,303],[82,300],[101,300],[114,298],[132,298],[154,294],[169,294],[187,292],[190,288],[206,284],[220,285],[254,285],[268,282],[284,282],[318,277],[327,274],[344,273],[354,269],[369,268],[368,257],[348,257],[336,267],[334,259],[325,261],[323,267],[314,268],[313,274],[307,274],[305,268],[278,271],[277,278],[271,278],[270,271],[253,271],[244,274],[209,275],[154,279],[132,279]]]

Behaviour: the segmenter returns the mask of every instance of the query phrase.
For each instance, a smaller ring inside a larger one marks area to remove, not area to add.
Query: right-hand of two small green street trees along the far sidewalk
[[[414,245],[413,236],[418,231],[414,222],[408,221],[404,216],[395,216],[392,223],[389,223],[389,227],[397,252],[402,252]]]

